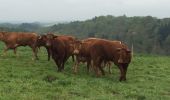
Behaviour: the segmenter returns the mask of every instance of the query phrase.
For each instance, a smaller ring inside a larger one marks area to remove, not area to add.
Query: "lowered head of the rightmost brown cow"
[[[118,51],[118,63],[129,63],[131,60],[131,51],[126,48],[117,48]]]

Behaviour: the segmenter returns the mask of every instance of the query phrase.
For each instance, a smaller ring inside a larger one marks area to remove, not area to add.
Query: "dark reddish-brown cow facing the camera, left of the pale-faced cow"
[[[70,37],[57,36],[52,33],[48,33],[39,38],[39,41],[44,41],[45,46],[49,48],[49,55],[51,55],[55,61],[59,72],[64,70],[65,62],[70,56],[72,56],[73,48],[69,44],[68,39]]]

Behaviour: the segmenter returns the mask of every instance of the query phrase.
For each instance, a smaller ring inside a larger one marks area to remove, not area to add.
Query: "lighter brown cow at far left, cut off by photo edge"
[[[30,32],[0,32],[0,41],[3,41],[6,45],[4,54],[8,49],[13,49],[16,54],[16,48],[19,46],[29,46],[32,48],[35,59],[37,57],[37,42],[38,35]]]

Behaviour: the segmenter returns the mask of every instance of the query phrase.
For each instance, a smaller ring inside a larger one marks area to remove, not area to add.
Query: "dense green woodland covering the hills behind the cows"
[[[54,32],[74,35],[80,39],[99,37],[121,40],[136,53],[170,55],[170,18],[151,16],[99,16],[86,21],[73,21],[44,26],[40,23],[0,24],[0,31]]]

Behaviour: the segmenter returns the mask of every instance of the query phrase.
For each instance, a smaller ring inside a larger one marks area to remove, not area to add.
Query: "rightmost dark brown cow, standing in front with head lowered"
[[[105,74],[101,63],[106,60],[113,61],[120,69],[121,75],[119,80],[126,80],[127,67],[131,61],[131,51],[122,42],[99,39],[91,45],[90,57],[97,76],[98,69],[103,75]]]

